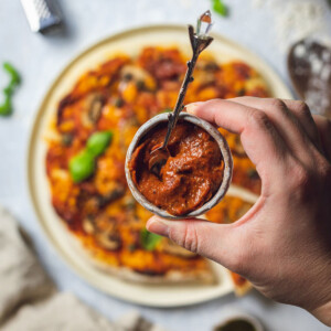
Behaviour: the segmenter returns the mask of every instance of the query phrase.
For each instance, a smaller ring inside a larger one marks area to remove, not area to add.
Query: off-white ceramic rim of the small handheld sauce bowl
[[[135,199],[147,210],[149,210],[150,212],[152,212],[153,214],[157,214],[163,218],[170,218],[170,220],[181,220],[181,218],[188,218],[188,217],[195,217],[199,215],[204,214],[205,212],[207,212],[209,210],[211,210],[213,206],[215,206],[225,195],[229,183],[231,183],[231,179],[232,179],[232,171],[233,171],[233,161],[232,161],[232,154],[228,148],[228,145],[225,140],[225,138],[220,134],[220,131],[212,126],[210,122],[190,115],[188,113],[181,113],[179,116],[179,120],[184,120],[184,121],[189,121],[193,125],[196,125],[197,127],[203,128],[205,131],[207,131],[217,142],[222,157],[223,157],[223,161],[224,161],[224,173],[223,173],[223,181],[220,185],[220,189],[217,190],[217,192],[214,194],[214,196],[207,201],[205,204],[203,204],[200,209],[186,214],[186,215],[181,215],[181,216],[174,216],[169,214],[167,211],[159,209],[158,206],[156,206],[154,204],[152,204],[150,201],[148,201],[138,190],[138,188],[136,186],[136,184],[134,183],[132,179],[131,179],[131,173],[129,171],[128,168],[128,163],[131,160],[132,153],[135,151],[135,149],[139,146],[139,142],[141,141],[141,139],[151,130],[153,129],[157,125],[159,125],[162,121],[168,121],[168,116],[169,114],[163,113],[160,115],[154,116],[153,118],[151,118],[150,120],[148,120],[145,125],[142,125],[139,130],[137,131],[136,136],[134,137],[134,140],[131,141],[128,151],[127,151],[127,158],[126,158],[126,177],[127,177],[127,182],[128,185],[131,190],[132,195],[135,196]]]

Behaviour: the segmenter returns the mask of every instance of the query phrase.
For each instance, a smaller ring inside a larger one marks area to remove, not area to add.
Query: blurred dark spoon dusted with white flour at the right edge
[[[312,113],[331,118],[331,47],[303,39],[289,51],[288,71]]]

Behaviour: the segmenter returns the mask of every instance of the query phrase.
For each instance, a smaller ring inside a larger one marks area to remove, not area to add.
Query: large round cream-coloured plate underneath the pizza
[[[287,87],[268,65],[239,45],[220,35],[214,36],[215,41],[211,45],[210,52],[215,53],[218,62],[234,58],[243,60],[264,76],[274,96],[291,98]],[[64,223],[52,207],[45,175],[46,145],[44,137],[49,122],[56,111],[58,100],[72,89],[75,82],[87,70],[94,68],[118,53],[138,55],[141,49],[147,45],[177,45],[190,54],[189,38],[184,26],[147,26],[129,30],[103,40],[82,52],[58,75],[45,95],[32,127],[28,158],[29,188],[39,221],[49,239],[67,264],[86,281],[114,297],[140,305],[154,307],[193,305],[233,291],[231,277],[223,267],[213,264],[218,279],[218,284],[214,286],[138,285],[121,281],[117,277],[96,269],[77,250],[73,249],[71,243],[73,238],[68,236]],[[243,192],[241,189],[232,188],[228,194],[242,195]],[[252,193],[244,193],[243,197],[253,202],[256,199]]]

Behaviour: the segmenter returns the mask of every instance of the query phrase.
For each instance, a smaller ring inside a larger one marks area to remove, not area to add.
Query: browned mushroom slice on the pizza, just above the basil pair
[[[89,94],[83,104],[82,122],[85,127],[93,127],[96,125],[102,115],[102,109],[105,104],[105,98],[102,94]]]

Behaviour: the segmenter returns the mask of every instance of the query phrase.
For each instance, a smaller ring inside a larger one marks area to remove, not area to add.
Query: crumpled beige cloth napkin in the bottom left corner
[[[17,221],[0,207],[1,331],[162,331],[138,312],[117,322],[57,292],[32,252]],[[163,330],[164,331],[164,330]]]

